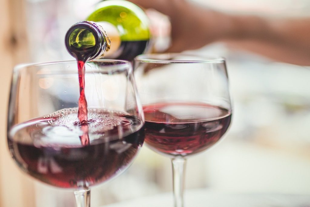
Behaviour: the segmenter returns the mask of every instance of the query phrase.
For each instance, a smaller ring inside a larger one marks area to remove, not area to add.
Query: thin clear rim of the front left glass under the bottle
[[[99,60],[87,61],[86,63],[89,63],[89,62],[119,62],[119,64],[107,65],[107,66],[117,67],[117,65],[128,65],[131,67],[131,63],[125,60],[99,59]],[[66,63],[77,63],[77,61],[76,60],[64,60],[64,61],[50,61],[50,62],[38,62],[38,63],[20,63],[18,65],[15,65],[14,71],[18,71],[23,68],[28,68],[28,67],[33,67],[33,66],[57,65],[57,64],[66,64]]]

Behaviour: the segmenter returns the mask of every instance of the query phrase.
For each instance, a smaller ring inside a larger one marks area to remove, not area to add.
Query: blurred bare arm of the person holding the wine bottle
[[[278,61],[310,65],[310,18],[229,15],[185,0],[129,0],[170,17],[169,52],[224,41]]]

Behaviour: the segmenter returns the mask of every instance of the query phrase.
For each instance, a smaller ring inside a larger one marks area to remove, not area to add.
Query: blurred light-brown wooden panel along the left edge
[[[0,206],[34,204],[33,181],[18,169],[7,148],[7,105],[14,65],[28,61],[24,0],[0,0]]]

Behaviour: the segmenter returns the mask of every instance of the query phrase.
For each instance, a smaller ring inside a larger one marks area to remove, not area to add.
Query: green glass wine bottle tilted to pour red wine
[[[106,0],[96,5],[86,21],[71,26],[65,36],[68,52],[88,61],[104,56],[131,61],[148,49],[149,20],[137,5]]]

